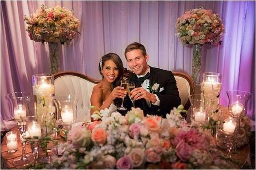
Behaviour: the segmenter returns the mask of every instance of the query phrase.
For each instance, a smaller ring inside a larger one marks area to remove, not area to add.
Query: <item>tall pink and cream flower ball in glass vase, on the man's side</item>
[[[200,83],[202,44],[221,44],[225,28],[219,14],[211,9],[190,9],[177,19],[176,36],[182,44],[194,44],[192,78]]]

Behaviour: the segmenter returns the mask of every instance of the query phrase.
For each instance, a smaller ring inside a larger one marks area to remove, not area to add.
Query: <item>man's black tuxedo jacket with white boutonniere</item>
[[[145,99],[135,100],[135,108],[139,107],[143,109],[144,115],[146,114],[154,114],[158,116],[166,117],[166,113],[170,113],[173,107],[177,107],[181,104],[181,99],[179,97],[179,91],[176,85],[176,80],[172,74],[172,71],[162,70],[159,68],[150,67],[150,78],[149,84],[152,87],[155,83],[159,84],[157,94],[160,105],[156,106],[151,103],[151,107],[148,106],[147,101]],[[129,82],[134,82],[135,87],[141,87],[141,84],[138,80],[136,74],[132,74],[128,78]],[[162,90],[162,88],[164,90]],[[162,90],[159,92],[159,90]],[[127,108],[127,111],[131,110],[132,101],[129,99],[128,95],[126,95],[124,99],[124,106]]]

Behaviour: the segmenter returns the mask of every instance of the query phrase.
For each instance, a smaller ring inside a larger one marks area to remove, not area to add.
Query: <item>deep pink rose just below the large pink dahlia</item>
[[[177,156],[182,161],[187,161],[192,153],[192,148],[186,142],[181,141],[176,146],[177,149]]]

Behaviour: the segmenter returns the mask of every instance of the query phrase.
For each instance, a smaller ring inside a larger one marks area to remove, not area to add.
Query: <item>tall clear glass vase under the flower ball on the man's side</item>
[[[202,45],[194,44],[193,60],[192,60],[192,78],[195,82],[195,85],[199,85],[201,82],[200,80],[201,60],[202,60]]]

